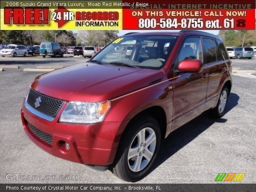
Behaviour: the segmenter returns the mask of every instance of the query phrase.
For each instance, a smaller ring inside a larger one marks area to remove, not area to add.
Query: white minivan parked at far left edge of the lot
[[[24,56],[26,57],[28,50],[24,45],[8,44],[0,51],[0,55],[4,56]]]

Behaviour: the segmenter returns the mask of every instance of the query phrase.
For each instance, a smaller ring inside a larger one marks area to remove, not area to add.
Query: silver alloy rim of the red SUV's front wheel
[[[156,134],[152,128],[143,128],[132,140],[128,151],[128,166],[133,172],[143,170],[154,154]]]

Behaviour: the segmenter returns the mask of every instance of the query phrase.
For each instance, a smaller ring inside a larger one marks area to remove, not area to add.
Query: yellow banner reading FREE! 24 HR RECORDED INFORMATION
[[[8,7],[9,10],[0,9],[1,30],[121,30],[122,9],[49,9],[48,24],[26,24],[34,22],[34,11],[25,11],[24,15],[17,17],[16,10]],[[66,11],[67,10],[67,11]],[[22,10],[21,10],[22,11]],[[58,13],[60,12],[60,13]],[[29,15],[30,14],[30,15]],[[44,12],[37,20],[43,20]],[[8,19],[10,24],[7,24]],[[23,24],[22,24],[23,19]],[[14,24],[19,22],[18,24]],[[6,23],[6,24],[5,24]]]

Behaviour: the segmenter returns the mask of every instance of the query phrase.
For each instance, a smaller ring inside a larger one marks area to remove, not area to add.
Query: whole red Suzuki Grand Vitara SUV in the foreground
[[[220,38],[206,32],[129,33],[86,63],[38,76],[22,124],[50,154],[134,182],[170,132],[206,110],[224,115],[231,66]]]

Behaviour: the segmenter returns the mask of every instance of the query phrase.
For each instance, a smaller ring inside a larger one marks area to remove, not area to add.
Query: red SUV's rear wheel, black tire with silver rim
[[[228,87],[225,85],[222,88],[222,91],[220,92],[220,97],[217,106],[209,111],[210,116],[214,118],[221,118],[222,116],[224,116],[227,108],[228,96]]]

